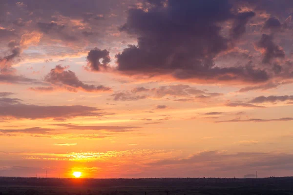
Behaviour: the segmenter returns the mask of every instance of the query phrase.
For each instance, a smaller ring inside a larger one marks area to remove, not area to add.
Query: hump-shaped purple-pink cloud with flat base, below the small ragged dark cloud
[[[65,89],[70,92],[77,92],[78,90],[82,90],[84,92],[92,92],[92,93],[100,93],[111,91],[111,88],[105,87],[103,85],[87,85],[84,84],[74,72],[70,70],[65,70],[68,67],[63,67],[61,65],[57,65],[55,68],[51,69],[50,73],[48,73],[44,81],[52,84],[50,87],[36,87],[30,88],[33,91],[41,91],[41,92],[50,92],[54,89]]]

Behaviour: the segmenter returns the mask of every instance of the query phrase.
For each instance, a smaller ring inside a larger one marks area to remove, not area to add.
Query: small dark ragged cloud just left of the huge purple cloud
[[[91,71],[100,71],[101,69],[107,69],[108,63],[111,61],[109,52],[107,50],[100,50],[98,48],[90,50],[86,57],[87,69]],[[102,63],[100,60],[102,60]]]

